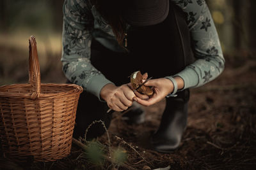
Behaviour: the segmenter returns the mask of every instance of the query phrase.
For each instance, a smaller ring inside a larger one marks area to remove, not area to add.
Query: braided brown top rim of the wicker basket
[[[18,92],[6,92],[3,89],[15,89],[16,87],[29,87],[31,86],[29,83],[19,83],[19,84],[12,84],[12,85],[2,85],[0,86],[0,97],[15,97],[15,98],[31,98],[31,94],[29,93],[18,93]],[[45,97],[58,97],[58,96],[67,96],[68,94],[76,94],[83,92],[83,87],[76,85],[76,84],[67,84],[67,83],[41,83],[41,87],[48,87],[48,86],[56,86],[56,87],[65,87],[69,88],[63,92],[56,92],[56,93],[40,93],[39,98]]]

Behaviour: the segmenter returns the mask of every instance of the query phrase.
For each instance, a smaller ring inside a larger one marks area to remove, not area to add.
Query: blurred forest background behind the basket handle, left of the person
[[[0,85],[28,82],[29,36],[36,37],[43,83],[64,83],[62,0],[0,1]]]

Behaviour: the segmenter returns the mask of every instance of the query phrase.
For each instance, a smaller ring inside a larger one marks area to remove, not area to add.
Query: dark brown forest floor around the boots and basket
[[[188,126],[179,148],[172,153],[158,153],[150,150],[148,145],[150,134],[159,125],[164,101],[146,108],[146,120],[140,125],[126,124],[118,116],[120,113],[114,113],[108,129],[111,147],[122,146],[127,153],[126,162],[118,169],[157,169],[167,166],[171,169],[254,169],[255,103],[256,60],[252,57],[227,57],[221,76],[203,87],[191,89]],[[107,134],[99,141],[109,146]],[[22,167],[110,169],[110,162],[106,161],[101,167],[95,166],[86,161],[82,153],[83,150],[73,144],[72,152],[65,159]]]

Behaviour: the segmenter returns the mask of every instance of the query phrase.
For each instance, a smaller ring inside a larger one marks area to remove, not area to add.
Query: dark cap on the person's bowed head
[[[168,15],[170,0],[124,0],[122,15],[128,24],[159,24]]]

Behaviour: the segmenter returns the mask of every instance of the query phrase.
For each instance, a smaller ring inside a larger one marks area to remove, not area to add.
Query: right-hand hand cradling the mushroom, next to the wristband
[[[135,101],[143,106],[155,104],[170,94],[170,92],[173,92],[173,83],[167,78],[148,80],[145,85],[154,87],[154,94],[150,96],[149,99],[143,99],[140,96],[134,98]]]

